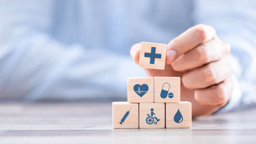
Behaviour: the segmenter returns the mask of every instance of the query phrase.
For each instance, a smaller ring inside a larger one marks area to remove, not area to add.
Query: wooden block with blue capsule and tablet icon
[[[180,102],[180,77],[155,77],[154,102]]]

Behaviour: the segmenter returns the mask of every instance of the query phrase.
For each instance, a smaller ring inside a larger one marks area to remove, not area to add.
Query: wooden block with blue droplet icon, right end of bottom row
[[[166,128],[191,128],[191,102],[166,103]]]

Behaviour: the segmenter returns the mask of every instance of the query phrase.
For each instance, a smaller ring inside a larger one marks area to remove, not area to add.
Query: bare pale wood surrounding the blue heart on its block
[[[139,84],[146,84],[149,86],[149,90],[140,97],[134,90],[133,86]],[[153,77],[135,77],[127,79],[128,85],[128,102],[129,103],[142,103],[142,102],[154,102],[154,78]]]

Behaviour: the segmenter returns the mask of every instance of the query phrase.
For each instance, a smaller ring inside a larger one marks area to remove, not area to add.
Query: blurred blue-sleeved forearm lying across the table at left
[[[2,98],[126,97],[126,79],[145,76],[132,59],[65,46],[44,34],[20,39],[0,61]]]

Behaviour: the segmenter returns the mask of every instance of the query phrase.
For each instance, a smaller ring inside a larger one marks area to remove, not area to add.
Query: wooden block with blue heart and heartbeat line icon
[[[154,78],[128,78],[128,102],[154,102]]]

